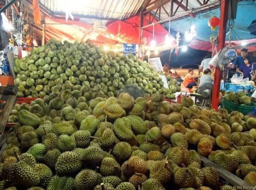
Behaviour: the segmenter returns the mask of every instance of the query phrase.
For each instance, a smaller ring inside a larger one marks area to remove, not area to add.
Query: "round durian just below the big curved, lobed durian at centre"
[[[132,154],[132,148],[127,142],[119,142],[114,146],[113,155],[118,160],[126,160]]]

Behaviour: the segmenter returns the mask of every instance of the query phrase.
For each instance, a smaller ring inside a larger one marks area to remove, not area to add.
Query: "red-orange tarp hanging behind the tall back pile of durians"
[[[149,20],[149,15],[146,16]],[[154,19],[154,22],[157,22]],[[147,21],[144,18],[144,26]],[[80,21],[72,21],[60,18],[45,17],[45,40],[57,38],[58,40],[70,41],[86,41],[90,34],[97,36],[95,43],[117,44],[118,42],[135,43],[139,42],[139,16],[134,16],[127,20],[115,20],[108,22],[106,31],[97,31],[97,27],[93,28],[92,24],[86,24]],[[39,30],[36,29],[37,36],[41,36]],[[161,24],[155,24],[155,40],[157,44],[165,42],[167,30]],[[147,37],[148,44],[153,39],[153,26],[143,29],[142,36]]]

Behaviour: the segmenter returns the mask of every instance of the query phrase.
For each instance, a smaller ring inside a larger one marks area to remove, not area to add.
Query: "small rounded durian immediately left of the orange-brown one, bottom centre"
[[[106,157],[101,161],[100,173],[103,176],[119,174],[120,165],[114,158]]]

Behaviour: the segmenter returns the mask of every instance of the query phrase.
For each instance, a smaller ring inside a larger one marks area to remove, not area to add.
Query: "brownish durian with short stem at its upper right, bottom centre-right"
[[[172,169],[167,160],[156,161],[150,169],[149,177],[157,179],[159,182],[161,182],[161,184],[165,184],[171,180],[171,176]]]

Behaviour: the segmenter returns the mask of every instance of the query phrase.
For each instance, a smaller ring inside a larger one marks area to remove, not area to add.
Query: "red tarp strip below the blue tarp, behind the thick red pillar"
[[[245,42],[245,44],[248,44],[244,46],[245,48],[248,49],[248,51],[256,51],[256,44],[250,45],[252,43],[256,43],[256,39],[231,41],[231,47],[237,47],[235,49],[238,53],[240,53],[241,49],[243,48],[241,44],[243,41]],[[211,42],[202,41],[198,39],[192,40],[189,46],[193,49],[198,49],[202,51],[212,51],[212,48],[213,48]],[[225,46],[229,46],[228,41],[225,42]]]

